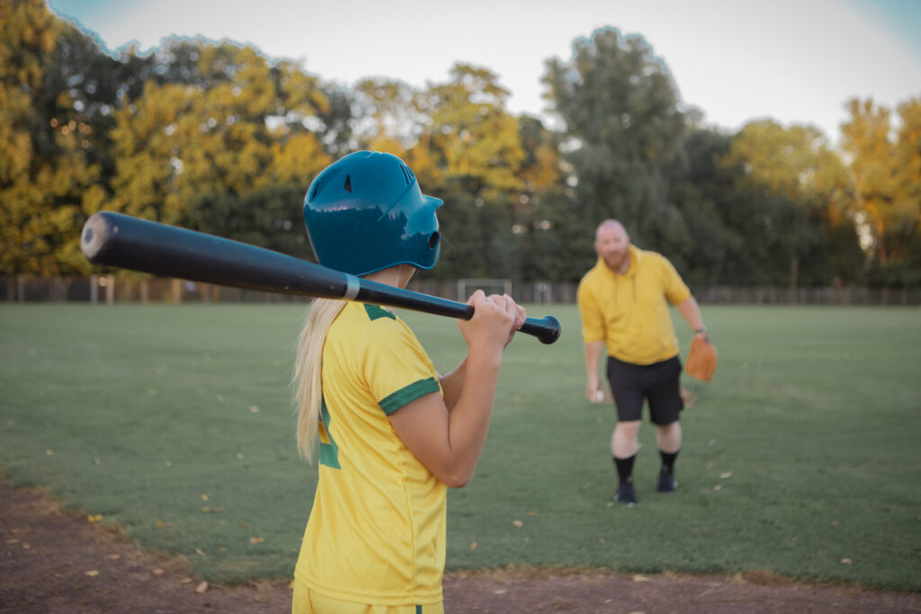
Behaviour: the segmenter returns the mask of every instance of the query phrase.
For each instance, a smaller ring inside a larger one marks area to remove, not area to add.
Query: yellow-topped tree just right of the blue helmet
[[[407,161],[426,191],[449,203],[439,212],[442,263],[429,274],[521,278],[513,226],[525,155],[507,98],[495,74],[468,64],[416,98],[428,123]]]

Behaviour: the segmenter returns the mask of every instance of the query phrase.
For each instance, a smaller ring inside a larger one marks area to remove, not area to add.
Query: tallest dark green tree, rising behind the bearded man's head
[[[669,203],[667,180],[684,116],[668,68],[646,41],[596,30],[573,44],[568,62],[548,61],[543,82],[565,122],[573,205],[589,242],[600,220],[615,217],[646,248],[686,249],[687,229]]]

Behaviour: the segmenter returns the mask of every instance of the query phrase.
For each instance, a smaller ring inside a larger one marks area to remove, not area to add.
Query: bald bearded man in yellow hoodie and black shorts
[[[633,466],[646,400],[662,458],[657,490],[672,492],[678,487],[674,465],[682,445],[678,418],[684,402],[679,384],[682,364],[669,304],[678,308],[695,336],[705,337],[706,327],[697,301],[671,263],[656,252],[631,245],[620,222],[601,222],[595,232],[595,251],[598,262],[582,277],[577,294],[589,371],[586,392],[593,403],[603,399],[598,370],[601,352],[606,350],[608,380],[617,406],[617,426],[611,438],[619,480],[614,498],[633,505]]]

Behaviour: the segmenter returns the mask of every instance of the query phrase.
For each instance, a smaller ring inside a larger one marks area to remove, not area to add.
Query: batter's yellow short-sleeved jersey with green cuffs
[[[447,487],[388,415],[437,392],[437,371],[391,311],[347,303],[323,345],[320,480],[295,577],[375,605],[440,602]]]

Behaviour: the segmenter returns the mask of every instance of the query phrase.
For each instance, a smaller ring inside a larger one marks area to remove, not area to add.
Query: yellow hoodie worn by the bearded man
[[[578,285],[577,302],[586,343],[604,341],[608,354],[634,365],[678,355],[669,305],[691,291],[664,256],[631,245],[630,268],[613,272],[599,257]],[[667,302],[668,301],[668,302]]]

